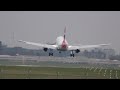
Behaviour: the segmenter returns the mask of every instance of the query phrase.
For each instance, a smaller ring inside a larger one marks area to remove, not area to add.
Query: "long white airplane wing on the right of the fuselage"
[[[110,45],[110,44],[69,46],[69,47],[68,47],[68,50],[99,48],[99,47],[102,47],[102,46],[108,46],[108,45]]]

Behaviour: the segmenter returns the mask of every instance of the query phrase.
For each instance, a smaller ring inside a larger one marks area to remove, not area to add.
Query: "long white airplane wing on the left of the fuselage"
[[[56,45],[34,43],[34,42],[28,42],[28,41],[23,41],[23,40],[19,40],[19,42],[23,42],[25,44],[30,44],[30,45],[34,45],[34,46],[44,47],[44,48],[48,48],[48,49],[56,49],[56,47],[57,47]]]

